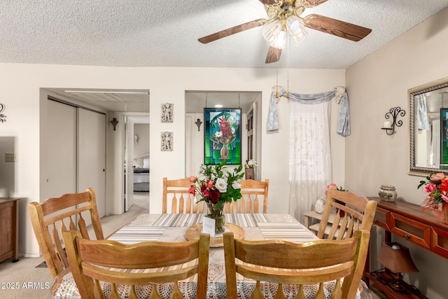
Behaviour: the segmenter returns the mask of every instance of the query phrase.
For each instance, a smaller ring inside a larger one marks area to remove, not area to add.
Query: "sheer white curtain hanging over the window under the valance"
[[[289,103],[289,213],[303,223],[331,181],[330,101]]]

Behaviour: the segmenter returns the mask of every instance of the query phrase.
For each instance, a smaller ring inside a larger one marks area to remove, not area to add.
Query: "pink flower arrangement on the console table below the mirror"
[[[425,186],[426,200],[421,206],[423,212],[433,210],[433,215],[448,223],[448,176],[442,173],[431,173],[426,181],[420,181],[417,189]]]

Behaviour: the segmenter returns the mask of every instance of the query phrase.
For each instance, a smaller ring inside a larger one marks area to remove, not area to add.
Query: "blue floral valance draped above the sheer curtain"
[[[286,90],[282,90],[279,97],[286,97]],[[323,102],[335,99],[339,106],[339,118],[337,120],[337,134],[348,136],[350,134],[350,105],[349,97],[345,88],[337,87],[329,92],[320,92],[314,94],[289,93],[289,100],[300,104],[321,104]],[[279,130],[279,112],[277,111],[276,97],[274,92],[269,100],[269,111],[267,112],[267,130]]]

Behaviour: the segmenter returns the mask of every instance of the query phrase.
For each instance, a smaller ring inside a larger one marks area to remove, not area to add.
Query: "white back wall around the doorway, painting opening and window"
[[[291,69],[290,90],[293,92],[323,92],[344,85],[342,69]],[[279,104],[280,130],[266,132],[269,95],[276,83],[275,69],[207,69],[207,68],[114,68],[81,67],[36,64],[0,64],[0,99],[6,105],[6,123],[0,123],[0,137],[14,137],[19,162],[15,164],[13,196],[25,197],[20,204],[20,253],[26,256],[38,254],[38,245],[29,223],[27,202],[39,202],[39,182],[44,179],[39,172],[39,123],[41,118],[51,117],[39,111],[39,88],[123,88],[151,90],[150,127],[151,152],[151,212],[162,210],[162,177],[185,176],[184,130],[186,90],[239,90],[262,92],[262,169],[260,179],[269,179],[269,212],[288,211],[288,104]],[[286,70],[279,70],[279,82],[286,83]],[[160,104],[170,102],[176,107],[174,123],[160,123]],[[332,116],[339,107],[333,103]],[[108,115],[109,120],[118,117],[117,131],[107,132],[108,146],[106,184],[106,213],[123,211],[120,162],[123,159],[120,113]],[[334,118],[333,125],[336,123]],[[174,132],[174,151],[160,151],[160,132]],[[343,184],[344,138],[332,135],[335,162],[335,181]],[[123,168],[121,168],[123,169]]]

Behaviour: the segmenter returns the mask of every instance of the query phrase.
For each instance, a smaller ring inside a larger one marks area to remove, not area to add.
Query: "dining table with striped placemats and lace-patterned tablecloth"
[[[202,217],[204,216],[205,214],[141,214],[113,233],[109,239],[123,244],[136,244],[145,241],[183,242],[188,240],[188,232],[202,223]],[[226,230],[232,227],[244,230],[240,237],[244,237],[246,240],[283,239],[288,242],[304,243],[318,239],[311,230],[289,214],[225,214],[225,223]],[[211,241],[217,239],[219,238],[211,237]],[[190,263],[197,263],[197,260]],[[176,267],[179,266],[173,266],[172,269],[176,269]],[[242,276],[238,276],[237,279],[238,292],[241,296],[239,298],[251,298],[255,281]],[[196,298],[196,280],[197,274],[184,281],[179,281],[179,289],[184,293],[184,298]],[[110,284],[103,281],[101,284],[104,295],[107,297],[110,292]],[[334,281],[325,284],[328,288],[334,288]],[[297,291],[294,287],[283,286],[283,293],[293,295]],[[126,293],[129,286],[121,286],[121,288],[123,288],[121,291]],[[140,298],[148,298],[151,288],[152,286],[149,285],[137,286],[137,294]],[[162,298],[169,298],[173,284],[158,284],[157,288]],[[269,298],[272,298],[276,292],[276,285],[274,284],[262,283],[262,288],[265,293],[268,293]],[[309,298],[312,298],[312,294],[317,291],[318,286],[310,285],[307,288],[305,291],[308,291]],[[118,291],[120,292],[120,290]],[[207,298],[220,299],[226,298],[226,296],[223,246],[219,242],[211,242]],[[52,288],[52,298],[80,298],[71,272],[67,271],[56,279]],[[286,295],[286,298],[288,298],[288,295]]]

